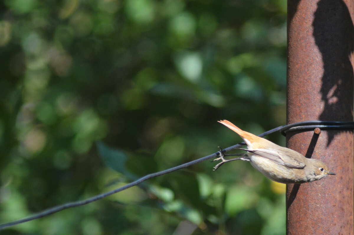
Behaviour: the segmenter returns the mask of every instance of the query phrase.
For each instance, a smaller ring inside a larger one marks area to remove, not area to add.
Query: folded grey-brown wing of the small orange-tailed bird
[[[282,147],[281,149],[276,149],[276,150],[261,148],[261,149],[250,150],[247,152],[251,152],[260,157],[273,160],[278,164],[293,167],[293,168],[304,168],[306,165],[303,160],[304,158],[303,155],[288,148]]]

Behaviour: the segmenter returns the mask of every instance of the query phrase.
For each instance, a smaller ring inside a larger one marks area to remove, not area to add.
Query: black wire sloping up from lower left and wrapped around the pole
[[[302,121],[302,122],[296,122],[296,123],[293,123],[293,124],[276,127],[274,129],[266,131],[266,132],[264,132],[264,133],[262,133],[261,135],[258,135],[258,136],[259,137],[263,137],[263,136],[269,135],[271,133],[274,133],[276,131],[280,131],[280,133],[282,135],[286,135],[286,132],[289,132],[289,131],[314,130],[316,127],[319,127],[321,129],[354,129],[354,122]],[[222,152],[224,152],[224,153],[229,152],[229,151],[231,151],[233,149],[241,147],[242,145],[244,145],[244,143],[235,144],[234,146],[225,148]],[[114,190],[99,194],[99,195],[91,197],[91,198],[88,198],[86,200],[65,203],[65,204],[62,204],[62,205],[59,205],[59,206],[55,206],[55,207],[46,209],[46,210],[44,210],[42,212],[39,212],[37,214],[33,214],[33,215],[31,215],[31,216],[29,216],[27,218],[24,218],[24,219],[19,219],[19,220],[15,220],[13,222],[0,224],[0,230],[2,230],[4,228],[7,228],[7,227],[10,227],[10,226],[13,226],[13,225],[16,225],[16,224],[21,224],[21,223],[24,223],[24,222],[27,222],[27,221],[30,221],[30,220],[42,218],[42,217],[45,217],[46,215],[54,214],[54,213],[62,211],[64,209],[68,209],[68,208],[72,208],[72,207],[78,207],[78,206],[82,206],[82,205],[85,205],[85,204],[89,204],[91,202],[95,202],[97,200],[105,198],[105,197],[107,197],[109,195],[112,195],[114,193],[126,190],[127,188],[130,188],[132,186],[138,185],[141,182],[144,182],[145,180],[148,180],[148,179],[160,176],[160,175],[168,174],[168,173],[171,173],[173,171],[176,171],[176,170],[179,170],[179,169],[182,169],[182,168],[185,168],[185,167],[188,167],[188,166],[200,163],[200,162],[204,162],[205,160],[209,160],[211,158],[217,157],[219,154],[220,154],[220,152],[216,152],[216,153],[210,154],[210,155],[208,155],[206,157],[199,158],[199,159],[196,159],[194,161],[191,161],[191,162],[188,162],[188,163],[184,163],[182,165],[175,166],[175,167],[167,169],[167,170],[163,170],[163,171],[159,171],[159,172],[156,172],[156,173],[153,173],[153,174],[145,175],[144,177],[141,177],[141,178],[139,178],[139,179],[127,184],[127,185],[124,185],[124,186],[116,188]]]

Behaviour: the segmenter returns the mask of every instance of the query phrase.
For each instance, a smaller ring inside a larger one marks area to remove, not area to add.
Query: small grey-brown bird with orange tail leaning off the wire
[[[225,154],[223,154],[221,150],[219,152],[220,157],[214,159],[214,161],[222,160],[222,162],[218,163],[214,167],[214,170],[225,162],[243,160],[251,162],[251,165],[264,176],[283,184],[302,184],[322,179],[326,175],[335,175],[335,173],[329,171],[328,167],[320,160],[306,158],[290,148],[281,147],[269,140],[242,131],[227,120],[218,122],[229,127],[241,136],[247,144],[247,149],[243,149],[247,151],[247,153],[228,154],[241,155],[241,157],[225,160],[223,158]]]

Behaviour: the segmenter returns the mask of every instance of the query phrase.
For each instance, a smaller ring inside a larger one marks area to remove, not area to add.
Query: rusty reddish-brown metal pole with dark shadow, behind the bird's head
[[[353,121],[353,19],[354,0],[288,0],[287,124]],[[287,185],[287,234],[353,234],[353,131],[292,132],[287,147],[337,173]]]

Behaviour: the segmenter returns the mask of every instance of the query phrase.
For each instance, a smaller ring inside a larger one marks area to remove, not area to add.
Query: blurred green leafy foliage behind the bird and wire
[[[0,2],[0,221],[285,124],[285,0]],[[284,145],[278,133],[269,139]],[[204,162],[2,234],[284,234],[285,185]]]

